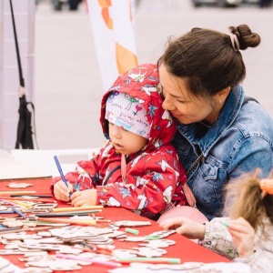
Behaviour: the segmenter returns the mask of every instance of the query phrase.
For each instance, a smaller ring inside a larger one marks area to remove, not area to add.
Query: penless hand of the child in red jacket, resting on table
[[[71,205],[73,207],[95,206],[96,205],[96,188],[76,191],[71,196]]]

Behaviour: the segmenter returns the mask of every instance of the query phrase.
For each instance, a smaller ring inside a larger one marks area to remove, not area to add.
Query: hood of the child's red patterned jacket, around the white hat
[[[136,66],[117,77],[113,86],[102,98],[100,122],[107,139],[108,121],[106,120],[106,100],[113,93],[126,93],[141,102],[147,111],[147,121],[151,128],[147,146],[142,152],[169,144],[176,134],[177,122],[167,110],[162,108],[163,96],[159,86],[156,65]]]

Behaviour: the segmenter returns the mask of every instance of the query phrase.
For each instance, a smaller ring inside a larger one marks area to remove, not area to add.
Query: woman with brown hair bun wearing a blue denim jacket
[[[220,216],[229,180],[257,167],[268,177],[273,167],[273,120],[239,85],[246,76],[241,52],[260,36],[248,25],[229,30],[193,28],[158,60],[163,107],[178,120],[173,145],[208,219]]]

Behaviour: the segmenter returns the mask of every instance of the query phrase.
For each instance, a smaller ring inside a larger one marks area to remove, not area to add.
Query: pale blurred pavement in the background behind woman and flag
[[[242,52],[248,96],[258,99],[273,116],[273,8],[202,6],[190,0],[142,0],[135,10],[139,64],[157,62],[167,39],[192,27],[228,33],[229,25],[248,24],[262,43]],[[35,122],[40,149],[101,147],[99,124],[104,94],[91,25],[84,4],[76,12],[53,10],[43,0],[35,11]]]

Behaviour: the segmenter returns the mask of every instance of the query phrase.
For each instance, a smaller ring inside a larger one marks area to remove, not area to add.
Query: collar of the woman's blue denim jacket
[[[195,136],[196,126],[194,124],[183,125],[179,123],[177,129],[187,138],[189,143],[198,145],[203,156],[207,157],[210,148],[213,147],[217,139],[222,136],[225,130],[232,125],[238,116],[243,100],[244,90],[241,86],[235,86],[231,89],[217,121],[209,128],[206,136],[203,136],[201,139]]]

